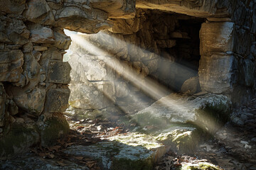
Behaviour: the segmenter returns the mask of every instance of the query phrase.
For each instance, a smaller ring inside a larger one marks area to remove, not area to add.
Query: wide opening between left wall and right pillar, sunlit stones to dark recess
[[[138,9],[96,34],[65,31],[72,45],[70,106],[136,113],[171,91],[200,91],[199,30],[204,18]],[[185,83],[184,83],[185,82]]]

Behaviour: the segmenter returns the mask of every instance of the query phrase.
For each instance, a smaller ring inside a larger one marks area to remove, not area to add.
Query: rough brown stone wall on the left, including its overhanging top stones
[[[1,157],[37,143],[49,145],[68,132],[60,113],[68,108],[70,95],[70,64],[63,55],[71,40],[63,28],[97,33],[112,26],[109,16],[134,16],[135,4],[8,0],[0,1],[0,8]]]

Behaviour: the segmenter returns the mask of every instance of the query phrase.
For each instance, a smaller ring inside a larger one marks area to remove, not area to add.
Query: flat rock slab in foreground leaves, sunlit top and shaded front
[[[65,154],[100,159],[103,169],[152,169],[165,147],[149,135],[127,133],[90,146],[71,146]]]

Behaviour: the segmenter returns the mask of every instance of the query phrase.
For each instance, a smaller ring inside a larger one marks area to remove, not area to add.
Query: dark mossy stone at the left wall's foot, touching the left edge
[[[0,138],[0,157],[11,157],[26,152],[39,142],[36,125],[14,123],[11,129]]]

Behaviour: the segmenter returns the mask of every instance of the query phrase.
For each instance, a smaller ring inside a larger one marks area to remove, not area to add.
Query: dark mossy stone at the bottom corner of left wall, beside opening
[[[52,145],[59,138],[65,137],[70,130],[68,122],[62,113],[53,113],[49,117],[41,115],[37,124],[43,147]]]

